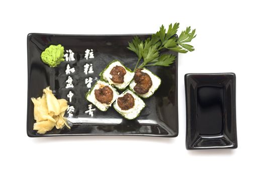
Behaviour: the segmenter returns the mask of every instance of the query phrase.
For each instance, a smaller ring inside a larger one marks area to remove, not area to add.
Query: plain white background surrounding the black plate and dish
[[[1,1],[0,175],[263,175],[262,1]],[[29,138],[28,33],[154,33],[197,29],[179,55],[179,136]],[[238,148],[185,148],[184,75],[235,72]]]

